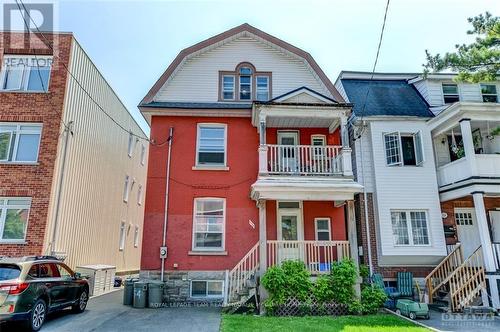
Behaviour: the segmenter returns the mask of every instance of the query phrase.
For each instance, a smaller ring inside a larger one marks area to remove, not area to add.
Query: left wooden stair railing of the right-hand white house
[[[457,243],[448,256],[434,268],[425,278],[425,285],[429,294],[429,303],[432,303],[434,294],[450,280],[453,272],[464,262],[461,244]]]

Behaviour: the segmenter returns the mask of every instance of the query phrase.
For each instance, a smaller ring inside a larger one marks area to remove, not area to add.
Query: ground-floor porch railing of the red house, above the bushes
[[[311,274],[330,273],[332,265],[349,258],[349,241],[267,241],[268,267],[300,260]]]

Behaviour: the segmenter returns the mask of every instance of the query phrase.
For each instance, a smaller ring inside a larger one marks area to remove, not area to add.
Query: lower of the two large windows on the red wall
[[[196,198],[194,200],[193,250],[223,250],[225,200]]]

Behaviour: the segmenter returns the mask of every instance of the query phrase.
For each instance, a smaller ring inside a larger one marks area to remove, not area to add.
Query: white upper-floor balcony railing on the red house
[[[339,145],[261,145],[259,173],[352,175],[351,150]]]

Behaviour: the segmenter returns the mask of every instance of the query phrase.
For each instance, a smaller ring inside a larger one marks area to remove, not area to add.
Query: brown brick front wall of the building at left
[[[51,34],[45,34],[50,40]],[[57,36],[48,93],[0,92],[0,122],[43,123],[37,165],[0,164],[0,197],[31,197],[25,244],[0,243],[0,255],[41,254],[50,190],[53,180],[57,143],[60,134],[67,72],[61,65],[69,63],[72,36]],[[0,32],[0,65],[4,54],[51,54],[48,47],[32,37],[35,49],[23,48],[24,34]]]

